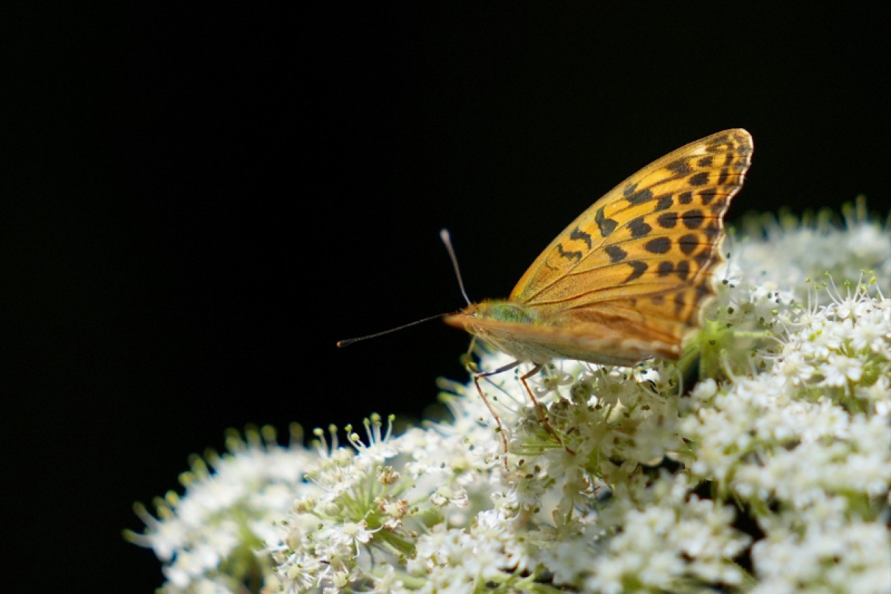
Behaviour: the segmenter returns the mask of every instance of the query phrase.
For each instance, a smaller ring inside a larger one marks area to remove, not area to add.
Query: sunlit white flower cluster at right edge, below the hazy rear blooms
[[[756,592],[891,591],[891,300],[826,293],[777,313],[764,372],[699,384],[682,425],[691,474],[764,534]]]

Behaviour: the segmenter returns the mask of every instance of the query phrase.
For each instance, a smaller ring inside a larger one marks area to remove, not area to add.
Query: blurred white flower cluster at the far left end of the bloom
[[[192,471],[180,475],[180,498],[156,499],[157,518],[142,506],[146,524],[128,540],[154,549],[167,577],[165,594],[241,592],[251,575],[271,573],[272,561],[257,556],[266,540],[276,538],[274,523],[288,513],[301,488],[312,452],[303,434],[291,426],[290,448],[276,443],[271,427],[250,429],[247,441],[227,435],[229,453],[192,458]],[[212,470],[211,470],[212,469]]]

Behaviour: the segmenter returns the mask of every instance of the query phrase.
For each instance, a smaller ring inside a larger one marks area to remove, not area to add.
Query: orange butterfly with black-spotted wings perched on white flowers
[[[506,300],[445,317],[515,359],[474,375],[499,427],[481,377],[532,363],[520,379],[541,411],[527,379],[552,359],[630,366],[680,357],[715,294],[723,216],[752,147],[752,136],[734,128],[653,161],[557,235]]]

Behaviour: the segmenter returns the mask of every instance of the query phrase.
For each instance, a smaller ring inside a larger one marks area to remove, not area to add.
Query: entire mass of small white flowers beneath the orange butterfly
[[[518,376],[486,378],[507,457],[472,382],[444,394],[449,423],[395,435],[372,416],[364,441],[316,432],[313,449],[254,439],[131,538],[170,594],[889,592],[891,243],[848,220],[734,249],[698,377],[687,358],[555,361],[530,382],[541,410]],[[762,260],[779,243],[801,250],[794,274]],[[833,277],[881,273],[805,282],[829,252]]]

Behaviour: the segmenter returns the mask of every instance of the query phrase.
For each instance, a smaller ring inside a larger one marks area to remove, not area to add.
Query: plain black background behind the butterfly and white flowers
[[[504,297],[601,194],[735,127],[756,151],[729,219],[857,194],[887,213],[887,8],[712,4],[10,18],[4,534],[34,564],[14,576],[150,591],[132,503],[227,427],[420,418],[466,336],[334,343],[462,306],[442,227],[470,296]]]

